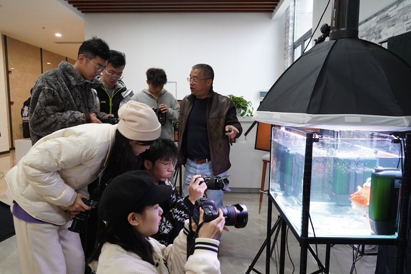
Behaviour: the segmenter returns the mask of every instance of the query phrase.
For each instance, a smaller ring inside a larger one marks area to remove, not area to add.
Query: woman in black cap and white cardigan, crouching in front
[[[174,243],[165,246],[151,235],[157,233],[163,210],[172,188],[154,184],[146,171],[131,171],[114,178],[99,203],[99,217],[105,221],[89,264],[97,273],[220,273],[217,259],[225,219],[219,216],[199,225],[194,254],[187,258],[189,220],[185,221]],[[200,220],[203,211],[200,209]]]

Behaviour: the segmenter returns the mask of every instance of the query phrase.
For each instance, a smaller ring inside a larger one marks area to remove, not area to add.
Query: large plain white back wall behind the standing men
[[[214,90],[244,95],[259,104],[283,72],[284,16],[269,13],[86,14],[85,37],[96,35],[126,54],[124,81],[140,91],[145,71],[163,68],[177,82],[177,99],[190,93],[191,67],[206,63],[215,73]]]

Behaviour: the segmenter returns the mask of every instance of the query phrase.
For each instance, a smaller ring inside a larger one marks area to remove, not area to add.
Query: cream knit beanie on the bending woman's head
[[[161,124],[146,104],[130,100],[121,106],[118,115],[121,119],[117,129],[124,137],[136,141],[152,141],[160,137]]]

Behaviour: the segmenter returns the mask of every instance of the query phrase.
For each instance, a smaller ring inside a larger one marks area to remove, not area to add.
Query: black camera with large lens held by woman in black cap
[[[213,200],[201,198],[194,207],[193,219],[198,224],[200,218],[200,207],[204,210],[204,222],[211,222],[218,217],[218,208]],[[247,225],[248,210],[244,204],[233,204],[221,207],[222,215],[226,219],[226,225],[243,228]]]

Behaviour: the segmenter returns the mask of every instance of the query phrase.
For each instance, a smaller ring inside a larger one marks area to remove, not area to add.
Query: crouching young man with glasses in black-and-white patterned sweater
[[[189,185],[189,195],[182,198],[177,194],[176,188],[169,181],[173,175],[176,164],[177,147],[174,141],[158,138],[149,150],[143,153],[144,170],[150,172],[154,177],[155,184],[170,185],[173,188],[170,198],[160,204],[164,210],[161,215],[161,223],[154,239],[162,244],[172,244],[184,227],[184,221],[189,219],[194,210],[195,202],[204,195],[207,189],[205,183],[200,184],[203,179],[198,179],[200,175],[191,178]]]

